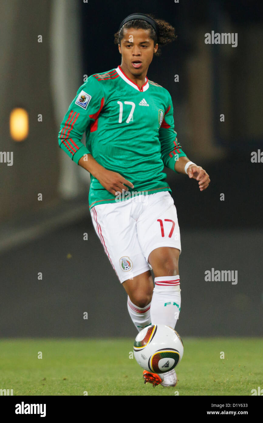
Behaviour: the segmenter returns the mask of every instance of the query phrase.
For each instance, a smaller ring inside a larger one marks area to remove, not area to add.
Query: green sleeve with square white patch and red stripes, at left
[[[76,163],[84,154],[91,153],[81,139],[89,124],[96,120],[103,104],[104,95],[100,83],[95,77],[88,77],[70,104],[58,135],[60,148]]]

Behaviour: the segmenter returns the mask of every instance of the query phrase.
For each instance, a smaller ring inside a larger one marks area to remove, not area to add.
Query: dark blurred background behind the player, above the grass
[[[176,29],[177,40],[161,47],[147,76],[171,93],[178,140],[211,179],[199,192],[196,181],[164,169],[182,240],[176,330],[182,338],[262,335],[263,164],[251,162],[252,151],[263,151],[262,5],[12,0],[1,7],[0,149],[14,151],[14,165],[0,163],[0,336],[137,333],[125,291],[91,222],[87,172],[71,163],[57,143],[71,101],[63,96],[73,99],[84,74],[120,64],[114,33],[133,12],[152,13]],[[238,33],[238,46],[204,44],[204,34],[212,30]],[[56,33],[62,41],[56,42]],[[52,48],[59,56],[60,42],[60,79],[68,80],[56,92]],[[177,83],[174,74],[179,74]],[[28,110],[30,133],[15,143],[9,114],[20,105]],[[43,113],[41,124],[38,113]],[[225,122],[219,120],[221,113]],[[206,282],[211,268],[237,270],[238,283]]]

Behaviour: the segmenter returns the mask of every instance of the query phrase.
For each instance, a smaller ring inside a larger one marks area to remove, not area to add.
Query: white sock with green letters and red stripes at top
[[[180,309],[179,275],[155,277],[155,288],[151,302],[152,324],[166,324],[174,329]]]

